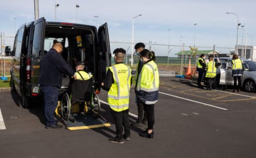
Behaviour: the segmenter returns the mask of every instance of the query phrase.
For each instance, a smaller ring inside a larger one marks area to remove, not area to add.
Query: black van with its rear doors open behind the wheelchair
[[[111,52],[107,23],[97,30],[94,26],[65,22],[46,22],[44,17],[23,24],[15,36],[11,66],[11,90],[21,96],[23,108],[29,108],[33,99],[40,97],[38,77],[40,61],[52,47],[54,41],[63,43],[62,56],[74,68],[75,61],[84,61],[85,71],[92,73],[95,88],[106,78],[111,66]],[[65,91],[69,78],[63,76]]]

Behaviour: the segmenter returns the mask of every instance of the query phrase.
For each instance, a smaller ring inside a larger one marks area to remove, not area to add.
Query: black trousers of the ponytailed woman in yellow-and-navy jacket
[[[154,110],[155,104],[144,104],[144,110],[147,114],[148,118],[148,130],[153,130],[154,124],[155,124],[155,110]]]

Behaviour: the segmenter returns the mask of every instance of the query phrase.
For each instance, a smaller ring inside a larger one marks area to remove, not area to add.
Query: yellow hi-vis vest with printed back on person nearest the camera
[[[108,104],[114,111],[120,112],[129,109],[131,87],[131,69],[125,64],[116,64],[109,67],[113,74],[114,83],[108,91]]]

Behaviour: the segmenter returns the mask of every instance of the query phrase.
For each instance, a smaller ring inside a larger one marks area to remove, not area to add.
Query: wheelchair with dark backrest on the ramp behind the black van
[[[79,112],[78,104],[84,104],[83,112],[92,113],[94,117],[100,116],[100,99],[97,90],[94,88],[92,78],[89,80],[74,80],[70,88],[62,94],[59,110],[65,121],[68,121],[71,109],[73,113]]]

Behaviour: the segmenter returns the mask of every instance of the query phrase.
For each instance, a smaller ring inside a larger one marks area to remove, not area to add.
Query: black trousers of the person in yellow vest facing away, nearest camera
[[[117,112],[111,109],[111,115],[114,118],[117,137],[123,138],[123,127],[125,135],[130,137],[131,128],[129,122],[129,110]]]

